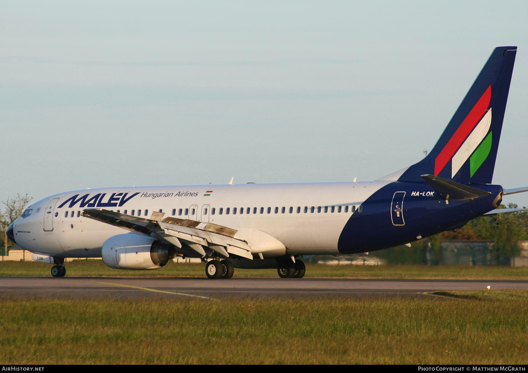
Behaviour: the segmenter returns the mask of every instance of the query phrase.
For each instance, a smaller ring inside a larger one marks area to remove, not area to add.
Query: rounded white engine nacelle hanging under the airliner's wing
[[[172,245],[137,233],[112,236],[102,245],[102,261],[118,270],[157,270],[176,255]]]

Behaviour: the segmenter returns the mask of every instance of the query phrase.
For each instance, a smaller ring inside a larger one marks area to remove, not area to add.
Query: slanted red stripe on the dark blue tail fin
[[[455,155],[460,145],[467,138],[469,133],[475,128],[480,118],[484,116],[489,106],[489,101],[492,98],[492,86],[490,85],[486,92],[480,97],[467,117],[462,121],[460,127],[455,131],[454,135],[449,139],[444,149],[440,151],[435,159],[435,176],[438,176],[440,171],[446,167],[447,162]]]

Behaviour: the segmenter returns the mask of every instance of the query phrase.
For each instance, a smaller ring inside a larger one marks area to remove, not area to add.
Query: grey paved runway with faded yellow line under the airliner
[[[437,290],[528,289],[528,281],[0,277],[0,297],[431,297]]]

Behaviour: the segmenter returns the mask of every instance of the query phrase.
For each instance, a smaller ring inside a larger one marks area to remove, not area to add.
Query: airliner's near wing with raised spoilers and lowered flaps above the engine
[[[202,223],[194,220],[166,217],[155,212],[150,219],[116,213],[102,208],[89,208],[82,212],[97,221],[128,229],[143,234],[155,233],[163,241],[179,248],[182,242],[205,256],[205,248],[229,257],[229,254],[253,259],[251,248],[246,241],[234,238],[235,229],[213,223]]]

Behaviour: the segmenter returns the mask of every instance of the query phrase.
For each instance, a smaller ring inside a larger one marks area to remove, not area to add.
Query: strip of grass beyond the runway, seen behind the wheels
[[[67,276],[153,276],[205,277],[204,264],[170,262],[160,270],[123,271],[107,267],[101,260],[66,263]],[[51,265],[38,262],[0,262],[0,276],[50,276]],[[234,277],[276,277],[276,270],[235,269]],[[528,280],[528,268],[506,266],[331,266],[306,264],[306,277],[343,279],[444,279],[444,280]]]

